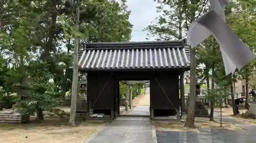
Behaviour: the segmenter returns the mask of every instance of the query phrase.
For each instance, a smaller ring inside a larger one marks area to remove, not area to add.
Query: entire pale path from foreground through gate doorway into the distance
[[[150,115],[150,94],[143,95],[126,115]],[[156,143],[156,130],[149,117],[118,117],[86,143]]]

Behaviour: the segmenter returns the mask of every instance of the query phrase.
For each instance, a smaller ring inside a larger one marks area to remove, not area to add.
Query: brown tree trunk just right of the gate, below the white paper
[[[185,127],[195,128],[195,104],[196,104],[196,59],[195,59],[196,48],[190,49],[190,94],[188,113],[185,122]]]

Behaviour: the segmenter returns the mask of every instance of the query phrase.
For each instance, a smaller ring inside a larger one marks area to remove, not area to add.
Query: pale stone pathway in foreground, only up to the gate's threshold
[[[88,143],[153,143],[150,118],[118,117]],[[87,143],[86,142],[86,143]]]

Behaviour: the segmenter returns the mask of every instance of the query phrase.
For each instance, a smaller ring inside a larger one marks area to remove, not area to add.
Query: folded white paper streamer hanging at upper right
[[[229,0],[209,0],[211,10],[193,21],[188,30],[187,44],[194,48],[210,35],[220,44],[226,75],[234,73],[252,61],[255,56],[250,49],[226,25],[224,9]]]

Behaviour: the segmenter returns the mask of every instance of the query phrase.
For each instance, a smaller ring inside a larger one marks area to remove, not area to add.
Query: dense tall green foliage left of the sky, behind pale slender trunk
[[[54,92],[55,97],[60,97],[60,93],[65,97],[71,90],[74,3],[0,2],[0,87],[4,94],[15,93],[13,84],[23,83],[27,77],[44,78],[42,83],[36,81],[39,87],[51,77],[53,83],[48,91]],[[129,15],[125,1],[81,1],[78,35],[81,47],[85,42],[129,41],[132,32]],[[44,86],[39,87],[34,94],[42,95],[45,91]]]

